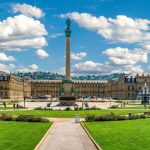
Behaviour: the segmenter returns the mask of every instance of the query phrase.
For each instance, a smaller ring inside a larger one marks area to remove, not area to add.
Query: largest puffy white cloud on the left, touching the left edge
[[[0,50],[41,48],[47,45],[47,31],[40,21],[24,15],[8,17],[0,22]]]

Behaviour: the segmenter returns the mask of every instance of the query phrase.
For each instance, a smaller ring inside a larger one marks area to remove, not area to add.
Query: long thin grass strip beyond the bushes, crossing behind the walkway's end
[[[100,115],[107,113],[116,113],[116,114],[128,114],[132,112],[142,113],[145,110],[71,110],[71,111],[58,111],[58,110],[16,110],[16,111],[0,111],[1,113],[13,114],[13,115],[35,115],[42,117],[56,117],[56,118],[74,118],[76,114],[80,114],[80,117],[85,117],[88,113]]]

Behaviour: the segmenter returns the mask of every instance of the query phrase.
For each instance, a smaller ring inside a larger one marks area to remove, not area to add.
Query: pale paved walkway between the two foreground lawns
[[[38,150],[96,150],[79,123],[74,119],[50,119],[55,124]]]

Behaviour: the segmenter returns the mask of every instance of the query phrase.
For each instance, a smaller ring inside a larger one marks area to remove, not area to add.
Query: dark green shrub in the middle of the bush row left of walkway
[[[24,122],[41,122],[41,117],[36,117],[32,115],[20,115],[16,117],[16,121],[24,121]]]

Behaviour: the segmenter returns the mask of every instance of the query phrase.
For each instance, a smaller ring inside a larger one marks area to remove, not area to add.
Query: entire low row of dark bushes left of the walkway
[[[19,115],[17,117],[14,117],[9,114],[2,114],[0,115],[0,120],[3,121],[22,121],[22,122],[49,122],[48,119],[32,116],[32,115]]]

